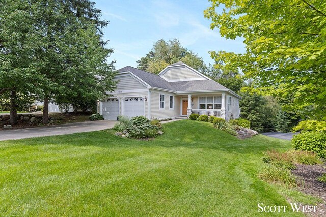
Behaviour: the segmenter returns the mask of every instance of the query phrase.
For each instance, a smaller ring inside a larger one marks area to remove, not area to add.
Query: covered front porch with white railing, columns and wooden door
[[[225,100],[224,92],[180,95],[180,116],[198,114],[226,119]]]

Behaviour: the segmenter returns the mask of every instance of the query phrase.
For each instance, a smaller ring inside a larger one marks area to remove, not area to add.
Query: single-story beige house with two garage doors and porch
[[[98,101],[97,111],[107,120],[118,115],[149,119],[206,114],[224,119],[240,115],[238,96],[181,61],[158,75],[130,66],[118,70],[117,89]]]

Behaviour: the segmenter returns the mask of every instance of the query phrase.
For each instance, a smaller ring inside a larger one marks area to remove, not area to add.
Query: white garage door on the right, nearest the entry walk
[[[135,117],[144,114],[144,99],[142,97],[128,97],[123,100],[123,115]]]

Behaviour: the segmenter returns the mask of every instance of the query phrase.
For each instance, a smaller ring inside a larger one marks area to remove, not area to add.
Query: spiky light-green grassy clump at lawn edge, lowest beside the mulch
[[[296,186],[296,178],[290,170],[275,166],[267,166],[260,173],[259,178],[271,183],[284,183]]]

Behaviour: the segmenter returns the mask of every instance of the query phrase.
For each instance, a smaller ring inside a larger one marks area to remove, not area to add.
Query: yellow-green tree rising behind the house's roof
[[[209,73],[209,67],[206,66],[203,58],[182,47],[177,39],[156,41],[148,54],[137,61],[137,67],[158,74],[165,67],[177,61],[182,61],[201,73]]]

